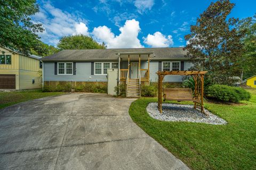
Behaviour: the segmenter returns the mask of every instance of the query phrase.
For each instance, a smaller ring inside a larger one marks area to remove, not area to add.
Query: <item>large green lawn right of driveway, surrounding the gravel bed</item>
[[[146,107],[156,98],[134,101],[129,113],[140,128],[191,169],[256,169],[256,90],[248,91],[252,98],[242,104],[205,103],[227,125],[155,120]]]

